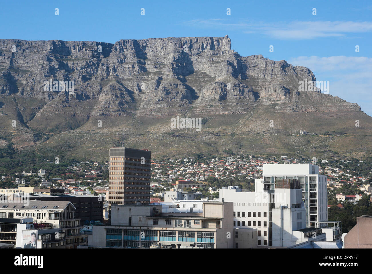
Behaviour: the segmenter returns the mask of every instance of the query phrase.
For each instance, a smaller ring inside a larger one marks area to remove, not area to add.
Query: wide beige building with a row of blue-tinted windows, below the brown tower
[[[232,207],[203,202],[203,213],[164,213],[161,205],[113,205],[111,226],[93,226],[86,248],[234,248]]]

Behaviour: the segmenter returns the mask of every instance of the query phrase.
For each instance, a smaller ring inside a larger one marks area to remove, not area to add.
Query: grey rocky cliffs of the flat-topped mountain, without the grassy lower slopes
[[[43,83],[49,79],[74,81],[74,94],[45,91]],[[241,57],[231,50],[228,36],[120,40],[115,44],[0,40],[0,94],[43,100],[39,115],[59,112],[61,104],[71,108],[75,100],[92,101],[84,115],[93,116],[158,113],[153,109],[171,114],[215,101],[219,105],[294,104],[300,98],[298,82],[304,79],[315,80],[305,67],[262,55]],[[315,96],[319,102],[323,98]],[[360,109],[336,101],[343,110]],[[299,111],[308,109],[296,105]],[[315,109],[328,108],[320,104]]]

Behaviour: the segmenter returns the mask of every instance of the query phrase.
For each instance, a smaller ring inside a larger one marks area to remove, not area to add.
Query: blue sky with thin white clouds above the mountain
[[[371,15],[372,1],[358,0],[8,1],[1,3],[0,38],[114,43],[228,34],[242,56],[309,67],[317,80],[330,81],[329,94],[372,116]]]

